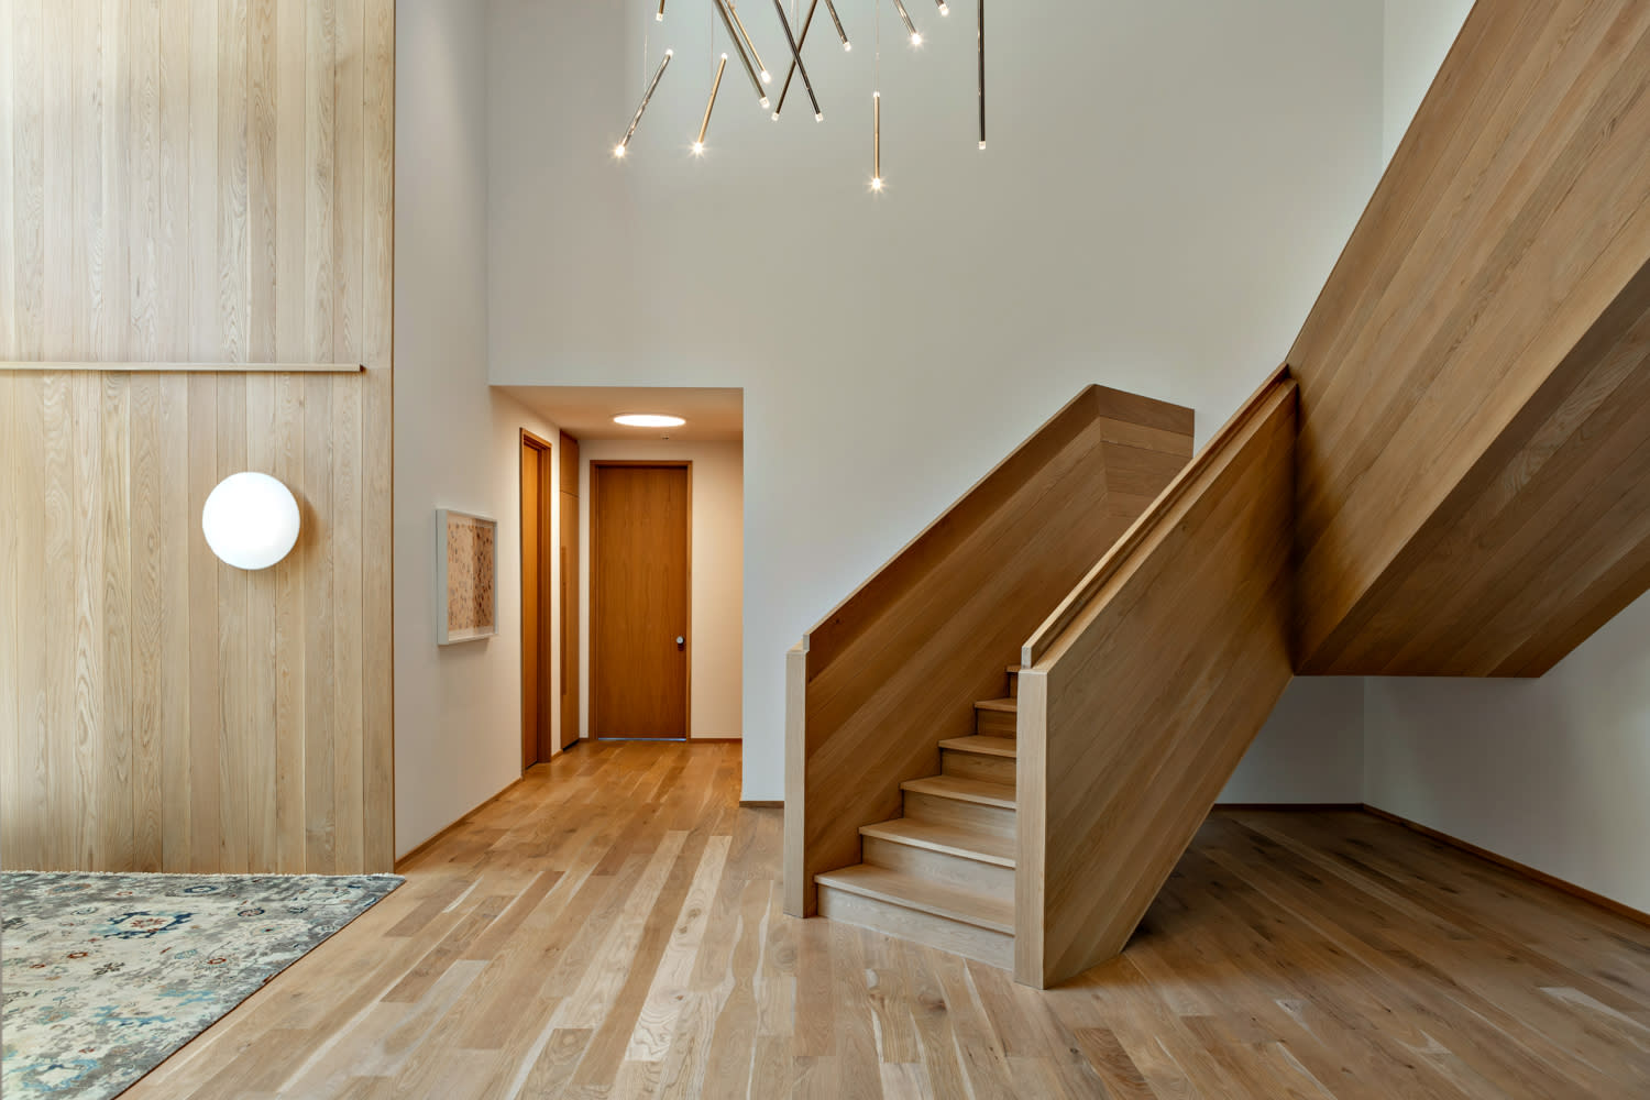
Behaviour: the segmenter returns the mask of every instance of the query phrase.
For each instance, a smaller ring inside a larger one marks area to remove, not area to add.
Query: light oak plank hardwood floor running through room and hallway
[[[578,745],[129,1100],[1650,1097],[1650,928],[1363,813],[1218,813],[1058,990],[780,912],[738,745]]]

